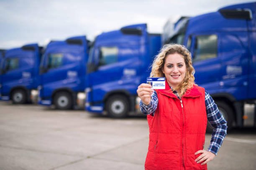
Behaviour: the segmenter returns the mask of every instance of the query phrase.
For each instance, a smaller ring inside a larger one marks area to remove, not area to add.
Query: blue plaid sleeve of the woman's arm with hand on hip
[[[227,121],[224,119],[214,100],[207,91],[205,91],[205,107],[207,119],[214,128],[211,142],[207,151],[217,155],[217,152],[220,149],[225,136],[227,135]]]

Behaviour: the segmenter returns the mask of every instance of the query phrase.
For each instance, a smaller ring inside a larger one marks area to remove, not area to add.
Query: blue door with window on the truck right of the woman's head
[[[206,90],[218,89],[220,85],[219,44],[218,34],[195,34],[189,36],[187,41],[195,68],[195,82]]]

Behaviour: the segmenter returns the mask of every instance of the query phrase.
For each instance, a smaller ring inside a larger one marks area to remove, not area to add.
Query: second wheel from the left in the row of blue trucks
[[[68,92],[58,92],[54,96],[56,109],[68,110],[72,108],[72,97]]]

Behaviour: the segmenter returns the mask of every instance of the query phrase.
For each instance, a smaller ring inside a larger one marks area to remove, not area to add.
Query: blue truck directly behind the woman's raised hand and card
[[[86,110],[110,117],[136,111],[137,87],[146,82],[160,47],[160,34],[149,34],[146,24],[98,35],[87,62]]]

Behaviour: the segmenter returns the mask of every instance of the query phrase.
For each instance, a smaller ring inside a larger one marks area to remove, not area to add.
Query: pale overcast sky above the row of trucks
[[[86,35],[147,23],[161,33],[168,19],[214,12],[255,0],[0,0],[0,49]]]

